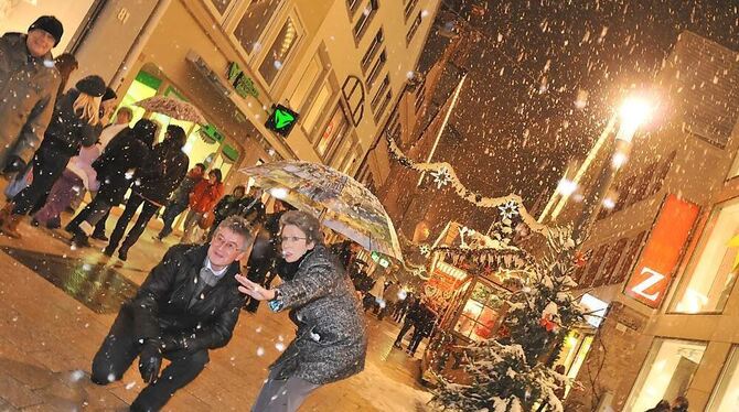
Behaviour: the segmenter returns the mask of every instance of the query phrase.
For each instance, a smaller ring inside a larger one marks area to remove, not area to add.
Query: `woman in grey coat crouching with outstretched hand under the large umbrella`
[[[275,312],[290,311],[296,338],[270,366],[253,412],[296,411],[317,388],[364,369],[367,337],[354,286],[323,245],[319,221],[304,212],[280,218],[282,258],[298,271],[275,289],[242,275],[239,291],[269,301]]]

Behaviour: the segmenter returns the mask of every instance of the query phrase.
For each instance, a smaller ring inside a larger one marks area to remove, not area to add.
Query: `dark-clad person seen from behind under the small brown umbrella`
[[[139,206],[143,205],[139,218],[126,236],[118,259],[128,259],[128,250],[139,240],[149,220],[167,202],[172,191],[188,173],[190,159],[182,152],[186,135],[184,130],[174,124],[167,127],[164,141],[157,144],[147,164],[137,170],[131,186],[131,196],[126,202],[124,214],[118,218],[116,228],[110,234],[110,241],[103,250],[106,256],[113,256],[124,238],[128,223],[131,221]]]

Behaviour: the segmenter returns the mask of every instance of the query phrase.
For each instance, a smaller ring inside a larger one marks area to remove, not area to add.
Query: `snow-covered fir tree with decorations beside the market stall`
[[[547,250],[526,279],[504,296],[510,308],[497,336],[464,348],[464,383],[439,377],[432,403],[447,411],[563,411],[558,399],[567,377],[553,364],[569,330],[583,321],[570,294],[576,286],[571,228],[550,229]]]

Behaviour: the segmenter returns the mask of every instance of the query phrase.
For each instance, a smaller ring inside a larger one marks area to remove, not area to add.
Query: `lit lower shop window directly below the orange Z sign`
[[[646,411],[685,394],[705,350],[703,343],[655,338],[624,411]]]

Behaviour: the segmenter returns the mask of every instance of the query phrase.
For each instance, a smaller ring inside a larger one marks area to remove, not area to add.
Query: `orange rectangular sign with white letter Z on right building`
[[[650,307],[660,307],[698,212],[697,205],[667,195],[642,256],[623,290],[626,296]]]

